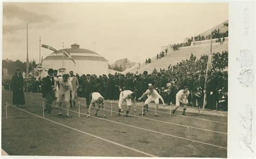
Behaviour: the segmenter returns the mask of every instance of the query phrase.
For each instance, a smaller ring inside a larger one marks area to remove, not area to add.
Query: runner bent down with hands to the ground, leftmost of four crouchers
[[[88,114],[87,117],[90,117],[91,110],[93,109],[93,107],[96,107],[95,116],[98,115],[98,111],[99,111],[100,107],[104,108],[104,98],[98,92],[90,93],[89,102],[90,102],[90,106],[89,106],[89,109],[87,112],[87,114]],[[104,109],[104,117],[107,117],[106,113],[105,113],[105,109]]]

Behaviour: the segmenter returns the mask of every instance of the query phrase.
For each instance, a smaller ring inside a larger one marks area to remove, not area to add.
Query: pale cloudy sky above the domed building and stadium
[[[109,64],[144,62],[228,20],[227,3],[3,3],[3,60],[39,61],[41,45],[93,50]],[[41,48],[45,58],[51,50]]]

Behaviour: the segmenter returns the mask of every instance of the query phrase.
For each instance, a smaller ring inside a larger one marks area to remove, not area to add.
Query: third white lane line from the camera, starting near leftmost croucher
[[[84,105],[84,104],[80,104],[80,105],[86,106],[86,105]],[[98,108],[98,109],[103,110],[103,109],[101,109],[101,108]],[[110,110],[107,110],[107,109],[105,109],[105,110],[111,112]],[[114,112],[114,113],[119,113],[119,112],[116,112],[116,111],[112,111],[112,112]],[[125,113],[121,113],[121,112],[120,112],[120,114],[124,114],[124,115],[125,115]],[[227,133],[217,132],[217,131],[211,131],[211,130],[209,130],[209,129],[199,128],[199,127],[193,127],[193,126],[187,126],[187,125],[181,125],[181,124],[176,124],[176,123],[173,123],[173,122],[161,121],[161,120],[156,120],[156,119],[144,118],[144,117],[139,117],[139,116],[131,115],[131,114],[129,114],[129,115],[130,115],[131,117],[137,117],[137,118],[146,119],[146,120],[152,120],[152,121],[157,121],[157,122],[163,122],[163,123],[165,123],[165,124],[178,125],[178,126],[183,126],[183,127],[187,127],[187,128],[200,129],[200,130],[202,130],[202,131],[214,132],[214,133],[220,133],[220,134],[225,134],[225,135],[227,135]]]

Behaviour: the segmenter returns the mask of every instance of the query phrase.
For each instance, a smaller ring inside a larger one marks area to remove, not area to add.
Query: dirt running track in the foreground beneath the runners
[[[8,119],[5,119],[5,101],[12,104],[11,99],[12,92],[3,90],[2,148],[9,155],[227,157],[225,118],[190,113],[187,117],[198,119],[169,117],[164,113],[154,117],[150,111],[144,116],[149,119],[142,119],[118,117],[116,113],[111,117],[107,111],[107,120],[110,120],[107,121],[103,120],[100,110],[99,118],[86,118],[83,114],[78,118],[78,113],[71,112],[72,118],[67,119],[57,117],[58,110],[53,108],[52,114],[45,114],[49,121],[22,111],[43,116],[42,96],[25,93],[26,108],[8,106]],[[105,106],[110,110],[109,103]],[[71,110],[78,112],[78,108]],[[117,104],[113,104],[113,111],[117,110]],[[139,111],[137,109],[137,115]],[[80,112],[86,114],[87,109],[81,107]],[[94,112],[92,110],[92,114]],[[133,114],[133,109],[130,112]]]

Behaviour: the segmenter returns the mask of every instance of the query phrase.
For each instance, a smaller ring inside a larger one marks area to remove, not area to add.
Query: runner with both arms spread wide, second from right
[[[143,93],[142,97],[138,98],[138,100],[141,100],[141,99],[142,99],[144,96],[146,96],[146,95],[149,96],[149,97],[148,97],[147,100],[145,101],[143,107],[144,107],[144,108],[147,107],[147,106],[150,104],[150,102],[154,101],[154,103],[156,103],[155,116],[156,116],[156,117],[159,117],[159,115],[157,114],[158,105],[159,105],[159,98],[161,99],[161,102],[162,102],[163,105],[165,106],[163,97],[161,97],[161,96],[159,95],[159,93],[154,89],[154,87],[153,87],[152,85],[149,86],[149,89],[146,90],[146,92]],[[142,113],[143,113],[143,115],[145,115],[145,109],[143,109],[143,111],[144,111],[144,112],[142,112]]]

